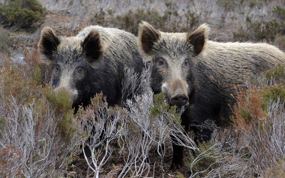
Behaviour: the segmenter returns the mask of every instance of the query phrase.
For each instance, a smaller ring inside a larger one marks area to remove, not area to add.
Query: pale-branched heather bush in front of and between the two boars
[[[169,134],[182,136],[184,143],[177,144],[197,149],[189,136],[183,134],[180,125],[180,114],[184,108],[169,108],[162,93],[153,96],[148,85],[149,69],[145,69],[141,76],[134,75],[131,69],[125,71],[123,96],[127,98],[124,102],[126,109],[107,107],[105,97],[100,94],[92,99],[89,107],[78,112],[81,128],[87,128],[84,132],[91,140],[90,143],[82,140],[82,144],[92,150],[91,160],[87,157],[85,160],[95,177],[102,176],[104,165],[110,164],[109,159],[114,154],[112,143],[117,142],[124,163],[114,165],[106,177],[113,174],[115,177],[156,177],[155,170],[162,172],[159,176],[167,177],[164,156],[165,146],[170,142]],[[134,90],[138,88],[140,92]],[[157,152],[160,163],[150,163],[152,150]]]

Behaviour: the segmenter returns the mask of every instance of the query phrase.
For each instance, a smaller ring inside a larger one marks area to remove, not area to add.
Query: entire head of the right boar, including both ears
[[[193,33],[164,33],[148,23],[140,25],[139,47],[145,60],[152,61],[151,87],[163,92],[172,105],[183,106],[194,90],[191,68],[205,43],[205,28]]]

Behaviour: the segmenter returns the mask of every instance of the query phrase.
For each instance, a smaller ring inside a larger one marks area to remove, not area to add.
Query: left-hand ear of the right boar
[[[158,30],[155,30],[149,23],[142,22],[139,25],[138,46],[140,53],[150,61],[154,55],[154,42],[160,37]]]

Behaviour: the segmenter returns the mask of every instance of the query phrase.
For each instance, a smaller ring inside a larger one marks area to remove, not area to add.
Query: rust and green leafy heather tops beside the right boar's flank
[[[281,103],[285,102],[285,64],[278,64],[262,75],[266,83],[260,83],[257,80],[250,81],[257,87],[241,92],[237,98],[238,107],[235,106],[234,122],[238,127],[243,125],[244,128],[250,128],[252,123],[262,122],[269,111],[268,103],[278,100]]]

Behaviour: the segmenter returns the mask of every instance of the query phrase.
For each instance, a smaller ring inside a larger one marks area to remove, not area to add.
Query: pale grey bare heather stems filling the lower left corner
[[[5,156],[1,158],[1,175],[56,176],[55,172],[65,169],[75,148],[66,145],[58,134],[58,123],[52,110],[40,118],[38,113],[34,113],[34,102],[24,106],[17,102],[12,96],[9,104],[1,101],[0,152]],[[77,143],[77,137],[74,135],[71,142]]]

